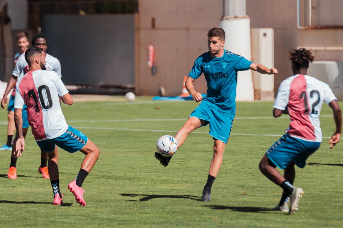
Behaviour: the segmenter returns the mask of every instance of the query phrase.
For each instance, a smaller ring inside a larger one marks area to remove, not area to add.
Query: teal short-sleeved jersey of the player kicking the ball
[[[206,52],[196,59],[189,77],[197,79],[204,73],[207,95],[202,102],[235,115],[237,72],[248,70],[251,64],[251,61],[230,51],[224,50],[224,55],[216,58]]]

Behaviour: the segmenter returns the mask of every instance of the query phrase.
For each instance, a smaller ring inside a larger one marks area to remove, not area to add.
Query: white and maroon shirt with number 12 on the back
[[[308,75],[294,75],[280,84],[274,108],[288,108],[291,123],[286,133],[292,137],[322,142],[320,110],[323,102],[337,100],[329,85]]]

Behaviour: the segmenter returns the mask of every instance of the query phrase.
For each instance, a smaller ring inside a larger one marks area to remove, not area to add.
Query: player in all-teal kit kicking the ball
[[[230,135],[236,113],[237,71],[256,70],[263,74],[277,73],[275,68],[267,68],[254,64],[244,57],[224,50],[225,32],[222,28],[211,28],[208,33],[209,51],[199,56],[186,80],[186,89],[195,102],[201,104],[175,135],[179,147],[184,144],[193,130],[210,124],[209,134],[214,139],[213,158],[206,185],[202,193],[202,201],[211,200],[211,187],[223,162],[225,145]],[[204,73],[207,81],[207,95],[202,97],[193,87],[193,82]],[[155,153],[162,165],[167,166],[171,157],[163,157]]]

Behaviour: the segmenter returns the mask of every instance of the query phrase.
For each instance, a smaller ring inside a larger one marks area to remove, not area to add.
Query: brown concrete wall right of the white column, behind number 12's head
[[[343,20],[333,19],[343,15],[336,9],[343,9],[343,1],[312,0],[312,25],[343,25]],[[297,28],[296,0],[247,0],[247,15],[251,18],[251,28],[274,29],[274,67],[279,71],[274,77],[275,91],[283,79],[293,75],[288,59],[288,51],[292,48],[343,47],[342,28]],[[316,61],[343,61],[343,51],[314,51],[314,55]]]

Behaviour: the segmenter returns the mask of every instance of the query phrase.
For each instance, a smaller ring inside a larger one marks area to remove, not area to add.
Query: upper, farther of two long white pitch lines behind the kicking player
[[[321,116],[323,118],[326,117],[332,117],[332,116]],[[333,118],[333,117],[332,117]],[[235,117],[235,120],[249,120],[249,119],[276,119],[274,117]],[[282,116],[277,119],[289,119],[288,116]],[[69,123],[84,123],[84,122],[90,122],[90,123],[96,123],[96,122],[139,122],[139,121],[186,121],[186,118],[179,118],[179,119],[123,119],[123,120],[69,120],[67,122]],[[2,123],[7,122],[0,122],[0,125],[3,125]]]

